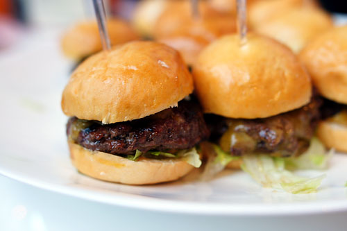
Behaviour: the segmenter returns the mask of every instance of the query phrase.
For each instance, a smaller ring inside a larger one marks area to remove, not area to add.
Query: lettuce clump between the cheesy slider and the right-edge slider
[[[310,147],[299,157],[289,157],[285,159],[285,168],[294,169],[327,169],[329,160],[334,151],[327,154],[321,141],[314,137],[311,139]]]

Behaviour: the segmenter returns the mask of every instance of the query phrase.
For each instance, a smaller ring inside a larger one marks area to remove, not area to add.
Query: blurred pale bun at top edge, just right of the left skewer
[[[152,37],[154,25],[158,17],[162,15],[167,7],[168,1],[164,0],[144,0],[139,1],[135,7],[133,15],[134,28],[143,36]]]

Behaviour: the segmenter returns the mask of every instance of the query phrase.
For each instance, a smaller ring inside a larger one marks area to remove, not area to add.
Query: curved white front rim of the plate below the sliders
[[[81,174],[81,173],[78,173]],[[50,182],[44,182],[31,177],[20,176],[11,171],[0,168],[0,175],[17,180],[26,185],[31,185],[39,189],[51,191],[66,196],[82,198],[84,200],[103,203],[106,205],[115,205],[133,209],[143,209],[152,212],[167,212],[174,214],[200,215],[200,216],[299,216],[328,214],[333,212],[347,212],[347,200],[325,200],[319,203],[310,203],[305,205],[300,203],[278,204],[228,204],[222,203],[201,203],[189,201],[176,201],[161,198],[151,198],[128,194],[119,191],[112,193],[90,191],[89,189],[80,189],[67,185],[57,185]]]

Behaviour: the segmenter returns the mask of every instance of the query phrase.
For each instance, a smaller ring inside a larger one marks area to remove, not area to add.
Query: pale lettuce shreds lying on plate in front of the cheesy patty
[[[284,158],[269,155],[245,155],[242,169],[263,187],[283,189],[291,194],[309,194],[321,185],[325,175],[304,178],[285,169]]]

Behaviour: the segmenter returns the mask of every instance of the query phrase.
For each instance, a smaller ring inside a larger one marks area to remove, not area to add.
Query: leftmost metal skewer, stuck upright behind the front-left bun
[[[105,6],[103,6],[103,0],[93,0],[96,21],[99,26],[99,33],[101,37],[101,44],[105,51],[111,49],[110,37],[108,37],[108,28],[106,24]]]

